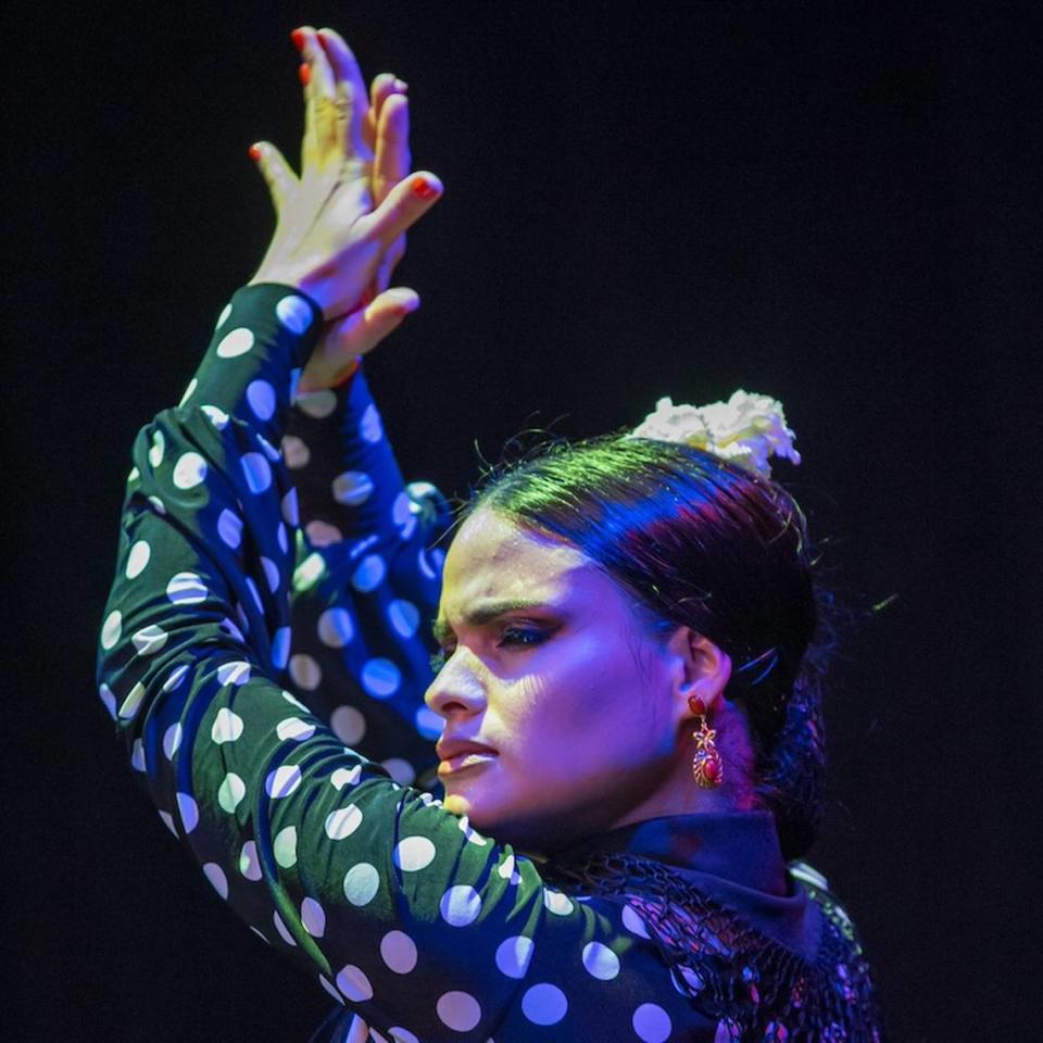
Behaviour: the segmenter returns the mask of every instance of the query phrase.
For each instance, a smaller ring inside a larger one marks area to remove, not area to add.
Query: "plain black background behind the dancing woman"
[[[837,663],[813,860],[893,1039],[1039,1039],[1041,15],[9,10],[8,1038],[284,1043],[329,1006],[176,849],[92,682],[130,441],[261,259],[247,147],[297,154],[307,21],[409,80],[447,186],[397,279],[423,306],[369,367],[405,470],[463,492],[476,439],[781,399],[804,465],[777,474],[841,599],[892,599]]]

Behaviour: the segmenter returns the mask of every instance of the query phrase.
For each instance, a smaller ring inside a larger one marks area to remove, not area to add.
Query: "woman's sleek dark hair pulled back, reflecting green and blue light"
[[[725,651],[725,690],[750,724],[754,788],[787,858],[824,812],[821,678],[831,596],[800,505],[777,481],[712,453],[610,435],[558,441],[486,475],[489,507],[567,540],[632,592],[663,631],[691,627]]]

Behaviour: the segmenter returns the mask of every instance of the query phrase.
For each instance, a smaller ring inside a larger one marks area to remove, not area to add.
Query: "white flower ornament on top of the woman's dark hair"
[[[703,449],[766,478],[771,477],[771,456],[784,456],[794,464],[801,462],[801,454],[793,448],[796,436],[786,425],[782,403],[742,389],[727,402],[709,405],[675,405],[669,398],[659,399],[655,412],[627,437]]]

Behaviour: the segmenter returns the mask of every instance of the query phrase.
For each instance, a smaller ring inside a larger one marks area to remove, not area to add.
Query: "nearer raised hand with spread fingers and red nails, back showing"
[[[369,114],[354,55],[331,29],[323,29],[319,39],[315,29],[305,26],[294,32],[293,39],[304,59],[301,177],[275,146],[260,142],[254,147],[278,222],[251,282],[296,286],[330,321],[350,315],[362,304],[367,288],[377,285],[381,264],[387,271],[388,259],[401,252],[405,230],[441,196],[441,183],[433,174],[418,172],[394,178],[385,198],[375,198],[375,189],[379,192],[391,178],[387,169],[374,178],[375,160],[381,151],[380,126]],[[388,110],[389,101],[384,101],[385,129],[393,133],[394,125],[387,121],[400,105],[392,102]],[[373,142],[366,140],[367,125],[373,127]],[[388,153],[387,148],[384,151]],[[391,153],[401,161],[401,149]],[[407,150],[404,155],[407,161]],[[385,290],[369,309],[379,309],[380,297],[388,294],[392,310],[403,304],[411,310],[409,296],[415,299],[412,290]]]

